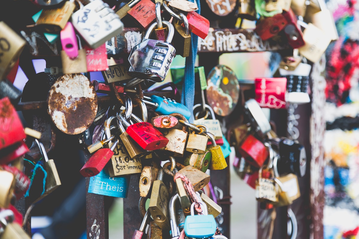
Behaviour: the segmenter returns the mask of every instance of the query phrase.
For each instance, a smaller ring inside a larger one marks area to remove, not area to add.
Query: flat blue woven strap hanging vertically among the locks
[[[189,0],[194,2],[194,0]],[[196,13],[201,13],[200,0],[196,0],[198,5],[198,10]],[[193,116],[193,105],[195,101],[195,62],[197,56],[197,45],[198,45],[198,36],[191,33],[191,49],[190,56],[186,57],[185,64],[185,77],[182,87],[182,100],[181,103],[184,104],[191,111],[191,118],[189,121],[192,123],[194,120]]]

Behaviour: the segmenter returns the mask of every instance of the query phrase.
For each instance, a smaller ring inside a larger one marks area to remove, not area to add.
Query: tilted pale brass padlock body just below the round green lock
[[[188,166],[182,168],[178,172],[181,173],[183,176],[187,177],[188,180],[191,181],[195,192],[197,192],[198,190],[200,190],[204,186],[206,186],[209,183],[209,180],[211,178],[206,173],[194,168],[191,165],[188,165]]]

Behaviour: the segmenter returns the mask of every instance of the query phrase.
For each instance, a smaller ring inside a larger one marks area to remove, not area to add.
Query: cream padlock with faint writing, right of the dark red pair
[[[298,48],[299,53],[311,62],[319,61],[332,40],[331,36],[312,23],[306,24],[301,21],[298,23],[305,28],[303,39],[306,43],[303,47]]]

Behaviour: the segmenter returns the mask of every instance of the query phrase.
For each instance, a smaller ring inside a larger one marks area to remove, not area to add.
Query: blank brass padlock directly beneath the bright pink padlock
[[[79,40],[79,50],[76,58],[71,59],[65,51],[61,51],[62,72],[64,74],[87,72],[86,51],[82,49],[80,37],[77,36],[77,38]]]

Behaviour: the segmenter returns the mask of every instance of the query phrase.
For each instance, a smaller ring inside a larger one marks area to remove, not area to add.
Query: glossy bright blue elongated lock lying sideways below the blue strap
[[[144,96],[144,99],[146,99],[144,100],[146,104],[152,105],[155,108],[155,111],[160,114],[169,115],[173,113],[180,113],[185,116],[186,119],[190,119],[191,117],[191,111],[188,110],[185,105],[182,105],[175,100],[159,97],[157,95],[152,95],[151,97]]]

